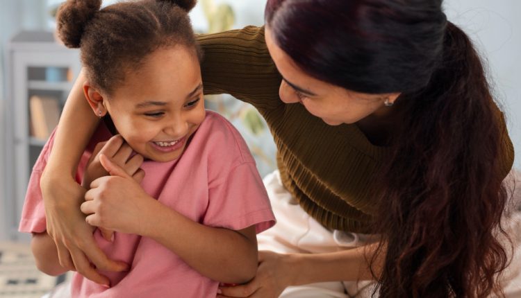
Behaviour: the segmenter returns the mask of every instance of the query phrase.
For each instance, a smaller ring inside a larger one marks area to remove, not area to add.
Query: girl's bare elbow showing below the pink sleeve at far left
[[[36,267],[45,274],[56,277],[67,272],[67,268],[63,268],[58,260],[58,249],[53,239],[46,232],[33,233],[31,239],[31,250],[35,258]]]

